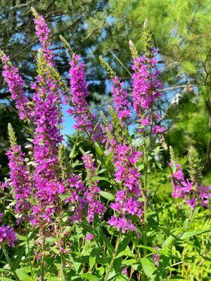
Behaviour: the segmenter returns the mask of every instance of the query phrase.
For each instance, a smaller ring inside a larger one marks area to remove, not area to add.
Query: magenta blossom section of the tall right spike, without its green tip
[[[132,100],[134,110],[139,117],[142,126],[153,126],[153,122],[158,120],[159,115],[153,113],[155,100],[160,98],[162,84],[158,78],[160,71],[156,69],[155,60],[156,50],[151,51],[150,55],[143,55],[141,58],[134,59],[132,69],[134,74]],[[153,134],[164,133],[165,128],[161,126],[153,127]]]

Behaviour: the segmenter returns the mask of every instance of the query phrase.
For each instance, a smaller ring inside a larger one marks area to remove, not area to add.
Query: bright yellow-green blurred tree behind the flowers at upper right
[[[211,163],[211,2],[209,0],[110,0],[105,37],[96,48],[120,77],[130,81],[129,39],[143,50],[142,26],[148,20],[165,87],[160,104],[170,130],[169,144],[179,154],[195,145]],[[117,60],[119,58],[120,61]],[[124,67],[122,65],[124,65]]]

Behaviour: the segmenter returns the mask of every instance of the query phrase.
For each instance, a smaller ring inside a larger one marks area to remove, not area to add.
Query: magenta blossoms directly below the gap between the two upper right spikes
[[[143,214],[143,202],[139,202],[141,174],[136,168],[141,152],[124,143],[115,145],[113,152],[116,167],[115,180],[120,182],[123,189],[117,191],[115,202],[110,204],[115,214],[110,218],[108,224],[116,226],[117,230],[122,230],[122,233],[127,230],[136,231],[136,227],[127,216],[141,218]]]

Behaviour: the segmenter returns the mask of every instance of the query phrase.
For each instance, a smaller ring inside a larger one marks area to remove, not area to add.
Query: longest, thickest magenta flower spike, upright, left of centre
[[[60,134],[60,91],[51,76],[48,65],[38,55],[39,75],[32,85],[34,101],[34,218],[32,223],[49,222],[56,211],[58,196],[65,191],[58,178],[58,145],[63,140]]]

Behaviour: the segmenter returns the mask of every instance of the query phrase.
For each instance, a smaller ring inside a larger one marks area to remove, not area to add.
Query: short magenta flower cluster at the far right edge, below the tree
[[[173,166],[173,164],[170,163],[170,166]],[[209,198],[211,197],[211,186],[197,185],[188,179],[186,180],[180,164],[175,164],[175,171],[171,179],[173,188],[172,197],[183,198],[191,209],[195,209],[197,204],[207,207]]]

